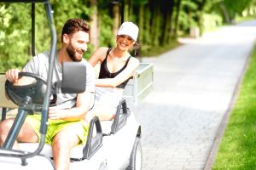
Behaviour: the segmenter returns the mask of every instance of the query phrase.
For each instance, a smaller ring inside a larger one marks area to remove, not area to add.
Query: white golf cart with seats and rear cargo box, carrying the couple
[[[0,2],[9,1],[0,0]],[[13,0],[12,2],[45,3],[45,6],[50,7],[48,0]],[[50,14],[49,11],[48,14]],[[51,17],[48,16],[48,19]],[[54,56],[54,54],[51,56]],[[1,121],[10,116],[17,117],[17,109],[19,108],[12,100],[6,98],[5,82],[5,75],[0,75],[0,107],[3,108]],[[142,128],[134,113],[126,107],[125,99],[129,105],[137,105],[138,101],[143,99],[152,89],[153,65],[142,63],[128,82],[124,99],[120,101],[117,108],[116,118],[113,121],[99,122],[98,118],[94,117],[90,122],[87,143],[76,146],[71,152],[70,170],[141,169],[142,147],[140,139]],[[46,94],[45,99],[49,99]],[[20,110],[22,110],[22,107],[19,109],[18,115]],[[11,147],[0,148],[1,169],[55,169],[49,144],[40,141],[40,143],[33,144],[20,143],[19,146],[20,150],[11,150]]]

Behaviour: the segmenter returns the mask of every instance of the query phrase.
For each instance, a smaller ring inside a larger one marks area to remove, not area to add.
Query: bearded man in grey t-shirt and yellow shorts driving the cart
[[[70,151],[77,144],[86,140],[88,125],[84,122],[87,111],[93,103],[95,91],[95,73],[93,67],[83,59],[89,42],[89,25],[81,19],[67,20],[61,33],[61,49],[55,57],[53,83],[62,77],[61,63],[65,61],[82,62],[86,65],[86,88],[81,94],[57,94],[56,106],[49,107],[49,126],[46,143],[52,144],[56,169],[69,169]],[[46,79],[48,77],[49,52],[34,56],[23,68]],[[19,83],[18,69],[6,72],[10,82]],[[78,73],[84,74],[84,73]],[[14,119],[7,119],[0,124],[0,144],[7,138]],[[40,115],[27,116],[18,142],[38,142],[40,138]],[[15,142],[14,148],[18,148]]]

